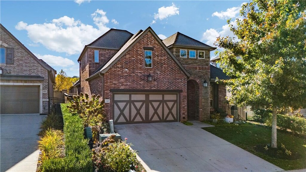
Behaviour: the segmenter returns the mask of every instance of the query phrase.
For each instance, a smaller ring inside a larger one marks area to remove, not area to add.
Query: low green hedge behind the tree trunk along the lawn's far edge
[[[265,123],[268,126],[272,126],[272,114],[269,114],[265,118]],[[294,133],[298,133],[301,136],[306,137],[306,119],[296,117],[292,115],[277,114],[277,126],[280,129],[290,129]]]

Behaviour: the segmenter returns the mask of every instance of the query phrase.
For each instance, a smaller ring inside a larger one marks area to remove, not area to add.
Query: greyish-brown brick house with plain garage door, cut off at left
[[[56,70],[1,24],[0,114],[47,114]]]

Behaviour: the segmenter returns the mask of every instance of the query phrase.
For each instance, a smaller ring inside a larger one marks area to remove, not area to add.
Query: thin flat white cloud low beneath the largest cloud
[[[61,66],[61,67],[67,67],[67,66],[72,66],[75,63],[68,59],[68,58],[63,58],[61,56],[54,56],[54,55],[41,55],[41,54],[34,54],[37,58],[43,59],[48,65],[51,67],[53,66]]]

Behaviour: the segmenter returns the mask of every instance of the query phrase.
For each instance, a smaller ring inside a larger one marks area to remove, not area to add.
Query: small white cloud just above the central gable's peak
[[[154,20],[151,24],[156,23],[156,20],[163,20],[173,15],[179,15],[179,8],[172,3],[172,6],[162,6],[158,9],[158,13],[154,13]]]

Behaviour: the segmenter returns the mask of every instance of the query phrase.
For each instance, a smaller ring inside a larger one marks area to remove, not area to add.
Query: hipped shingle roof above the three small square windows
[[[211,47],[205,43],[202,43],[196,39],[193,39],[189,36],[186,36],[180,32],[169,36],[168,38],[162,40],[162,42],[167,46],[188,46],[188,47],[197,47],[197,48],[207,48],[215,50],[216,47]]]

